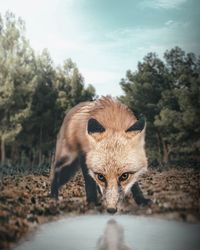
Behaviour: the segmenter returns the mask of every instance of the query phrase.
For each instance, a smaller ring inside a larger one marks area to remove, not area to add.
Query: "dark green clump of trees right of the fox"
[[[200,160],[199,62],[179,47],[166,51],[164,61],[149,53],[120,83],[120,99],[147,119],[150,161]]]

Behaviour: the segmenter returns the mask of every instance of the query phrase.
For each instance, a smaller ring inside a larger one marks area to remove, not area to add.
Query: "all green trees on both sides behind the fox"
[[[119,99],[146,117],[150,163],[200,161],[199,57],[178,47],[162,60],[149,53],[120,85]],[[71,59],[55,67],[47,50],[36,54],[30,47],[21,19],[0,15],[1,165],[49,166],[65,113],[94,97]]]

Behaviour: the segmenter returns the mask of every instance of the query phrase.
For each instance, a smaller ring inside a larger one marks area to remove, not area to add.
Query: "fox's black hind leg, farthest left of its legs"
[[[58,198],[59,188],[67,183],[79,168],[78,157],[70,165],[66,165],[58,169],[59,166],[63,165],[64,162],[65,161],[63,161],[63,159],[61,158],[60,161],[56,163],[54,177],[51,182],[51,196],[56,199]]]

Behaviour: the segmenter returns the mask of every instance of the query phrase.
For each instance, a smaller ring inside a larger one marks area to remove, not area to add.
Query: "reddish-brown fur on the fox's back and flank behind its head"
[[[88,135],[86,134],[87,122],[90,118],[97,119],[110,134],[115,131],[125,131],[135,121],[131,111],[120,102],[111,97],[102,97],[93,102],[83,102],[75,106],[66,115],[57,140],[56,159],[78,149],[85,153],[90,150]],[[106,137],[105,133],[94,135],[97,141]]]

